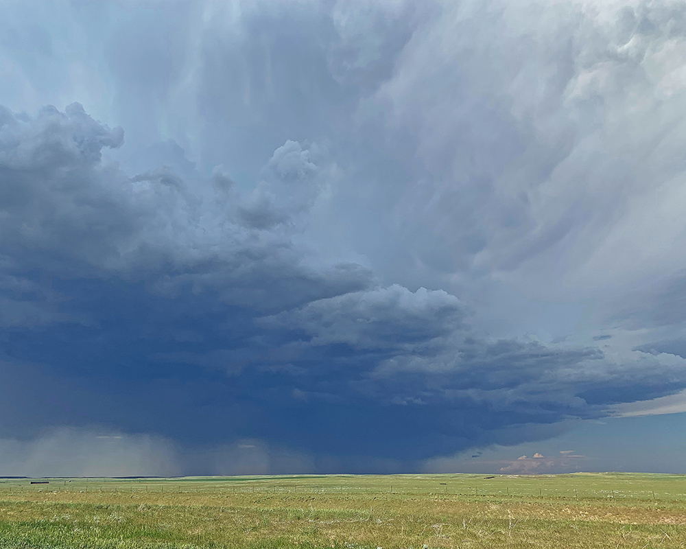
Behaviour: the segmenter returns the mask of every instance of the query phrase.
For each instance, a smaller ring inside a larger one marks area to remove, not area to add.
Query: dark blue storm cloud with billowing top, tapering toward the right
[[[241,194],[221,170],[128,177],[101,160],[121,141],[78,105],[3,111],[12,436],[100,424],[416,460],[686,386],[650,354],[618,366],[594,348],[485,340],[456,296],[308,258],[294,239],[335,174],[315,145],[287,141]],[[258,207],[283,221],[246,222]]]

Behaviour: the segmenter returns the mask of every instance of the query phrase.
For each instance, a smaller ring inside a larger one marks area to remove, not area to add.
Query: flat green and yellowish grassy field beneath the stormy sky
[[[678,548],[686,476],[0,480],[0,548]]]

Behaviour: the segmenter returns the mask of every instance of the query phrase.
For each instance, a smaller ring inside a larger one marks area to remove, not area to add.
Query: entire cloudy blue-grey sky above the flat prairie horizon
[[[686,3],[0,3],[0,475],[686,473]]]

